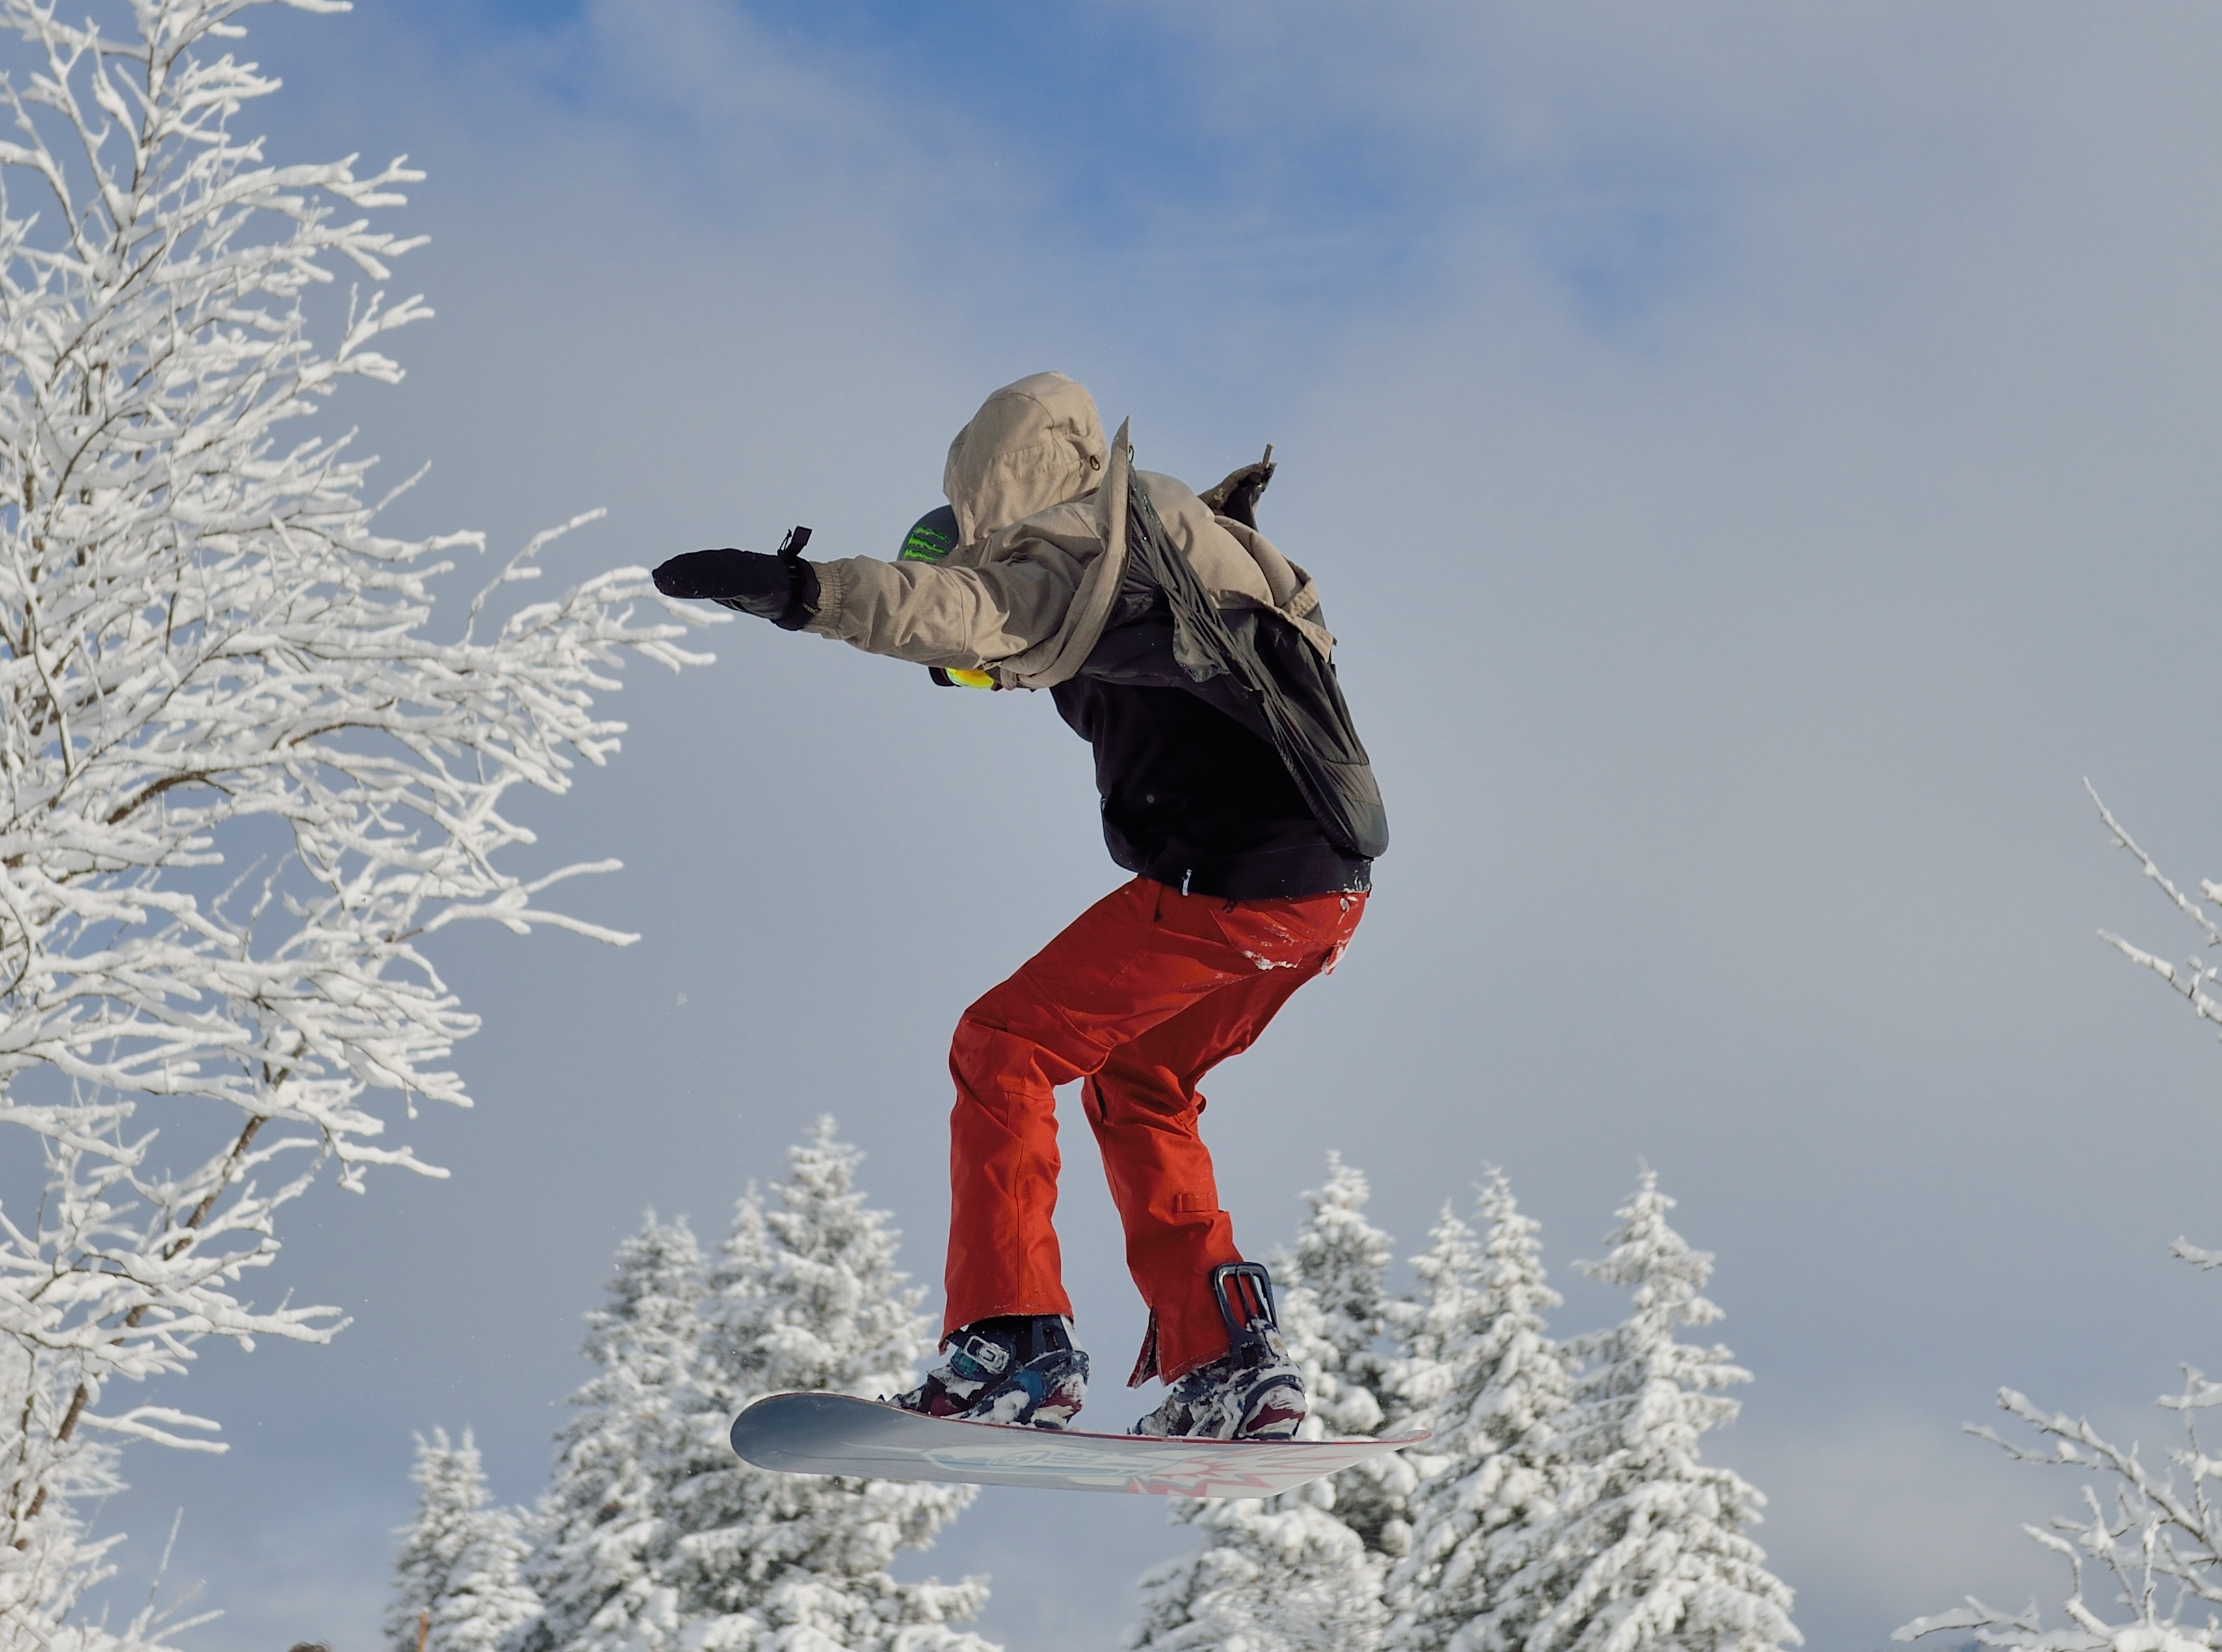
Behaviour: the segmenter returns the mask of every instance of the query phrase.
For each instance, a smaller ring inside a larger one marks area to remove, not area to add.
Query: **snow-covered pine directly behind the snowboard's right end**
[[[1389,1361],[1389,1235],[1367,1221],[1367,1179],[1327,1155],[1327,1183],[1304,1192],[1293,1250],[1273,1257],[1280,1330],[1304,1372],[1304,1439],[1373,1434]],[[1240,1645],[1380,1645],[1382,1577],[1407,1539],[1413,1485],[1402,1457],[1375,1459],[1273,1499],[1175,1499],[1175,1525],[1198,1548],[1142,1574],[1142,1616],[1129,1645],[1144,1652]]]

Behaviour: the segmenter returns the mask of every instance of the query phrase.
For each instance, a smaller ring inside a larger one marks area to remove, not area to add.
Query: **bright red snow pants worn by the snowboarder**
[[[1198,1137],[1198,1081],[1331,970],[1367,897],[1231,901],[1138,877],[1104,895],[964,1010],[949,1050],[949,1334],[995,1314],[1062,1314],[1058,1110],[1082,1101],[1127,1230],[1151,1334],[1133,1381],[1227,1352],[1211,1270],[1240,1261]]]

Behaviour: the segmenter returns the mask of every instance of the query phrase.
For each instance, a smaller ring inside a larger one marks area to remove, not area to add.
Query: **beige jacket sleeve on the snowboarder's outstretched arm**
[[[1029,546],[978,568],[842,557],[818,564],[807,631],[920,666],[980,671],[1058,633],[1080,568]]]

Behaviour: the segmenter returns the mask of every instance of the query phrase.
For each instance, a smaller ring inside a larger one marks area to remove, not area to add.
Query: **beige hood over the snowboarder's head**
[[[1004,384],[949,444],[942,493],[958,537],[975,544],[995,528],[1091,493],[1104,475],[1104,426],[1095,397],[1064,373]]]

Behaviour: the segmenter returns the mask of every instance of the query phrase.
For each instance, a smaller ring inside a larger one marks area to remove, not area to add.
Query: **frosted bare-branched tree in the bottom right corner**
[[[2200,1268],[2222,1268],[2222,1252],[2182,1239],[2175,1255]],[[2000,1388],[1998,1408],[2026,1423],[2035,1443],[2018,1445],[1973,1423],[1966,1432],[2020,1463],[2055,1463],[2104,1483],[2104,1492],[2082,1488],[2080,1517],[2055,1519],[2051,1530],[2022,1528],[2069,1563],[2066,1621],[2046,1628],[2035,1601],[2022,1612],[2004,1612],[1969,1594],[1964,1608],[1913,1619],[1893,1639],[1951,1630],[1955,1639],[1973,1632],[1982,1645],[2020,1652],[2222,1648],[2222,1454],[2200,1441],[2200,1412],[2222,1406],[2222,1383],[2184,1366],[2182,1392],[2155,1403],[2178,1412],[2182,1428],[2182,1443],[2169,1448],[2169,1465],[2160,1472],[2144,1465],[2135,1443],[2115,1445],[2086,1419],[2046,1414],[2024,1394]]]

